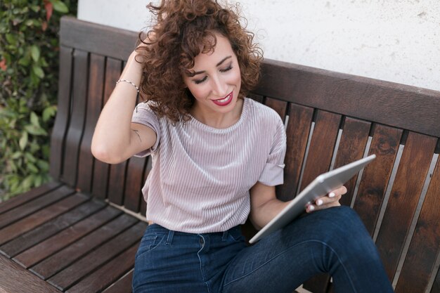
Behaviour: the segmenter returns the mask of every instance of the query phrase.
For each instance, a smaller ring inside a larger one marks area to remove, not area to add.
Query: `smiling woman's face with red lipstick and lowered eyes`
[[[235,108],[241,76],[231,43],[215,34],[214,51],[200,53],[194,59],[195,75],[183,74],[183,81],[195,98],[195,106],[204,112],[227,113]]]

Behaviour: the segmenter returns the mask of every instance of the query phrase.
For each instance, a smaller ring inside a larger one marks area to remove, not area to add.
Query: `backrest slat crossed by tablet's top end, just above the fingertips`
[[[346,117],[334,169],[362,158],[365,146],[367,145],[370,127],[370,122]],[[339,201],[341,204],[347,206],[351,204],[357,178],[358,174],[344,184],[347,188],[347,194]]]

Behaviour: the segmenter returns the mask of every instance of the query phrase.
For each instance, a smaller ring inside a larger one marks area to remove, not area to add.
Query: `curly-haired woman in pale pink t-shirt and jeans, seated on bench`
[[[309,215],[245,245],[239,226],[248,216],[261,228],[288,204],[275,193],[283,122],[245,98],[261,51],[235,9],[216,1],[148,7],[157,25],[131,53],[92,142],[103,162],[153,159],[134,292],[292,292],[322,272],[336,292],[392,292],[363,224],[339,207],[344,186],[309,204]],[[133,112],[139,91],[146,103]]]

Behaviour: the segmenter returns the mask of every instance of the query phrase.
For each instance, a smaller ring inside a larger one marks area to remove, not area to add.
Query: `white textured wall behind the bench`
[[[238,1],[266,58],[440,91],[439,0]],[[148,3],[79,0],[78,18],[138,31]]]

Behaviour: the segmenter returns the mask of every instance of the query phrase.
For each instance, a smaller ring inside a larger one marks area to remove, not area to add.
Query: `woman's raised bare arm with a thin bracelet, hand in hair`
[[[127,79],[139,86],[142,67],[131,53],[119,79]],[[119,82],[99,116],[91,142],[91,152],[100,161],[117,164],[142,150],[151,148],[156,141],[153,129],[131,123],[136,105],[136,88],[127,82]]]

